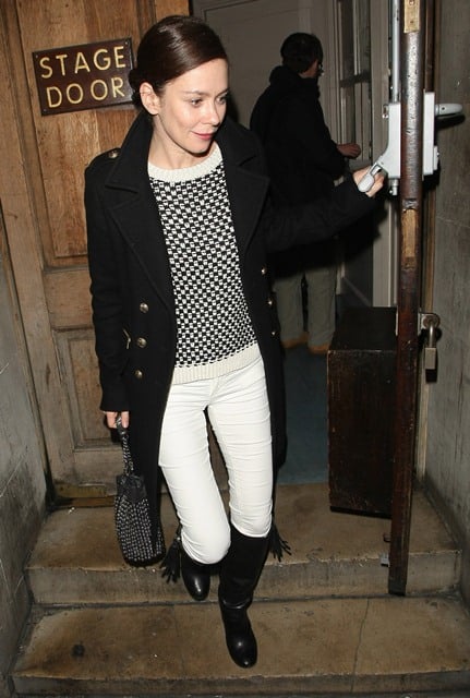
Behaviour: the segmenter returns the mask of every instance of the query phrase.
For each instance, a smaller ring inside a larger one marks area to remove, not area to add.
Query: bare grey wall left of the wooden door
[[[0,220],[1,224],[1,220]],[[45,509],[44,455],[0,226],[0,696],[29,611],[23,576]]]

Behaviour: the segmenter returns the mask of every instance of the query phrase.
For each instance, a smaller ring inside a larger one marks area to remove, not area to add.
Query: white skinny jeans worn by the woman
[[[222,453],[233,526],[266,537],[272,521],[273,454],[262,359],[218,378],[172,385],[161,429],[159,464],[182,524],[185,552],[220,561],[230,527],[209,459],[205,409]]]

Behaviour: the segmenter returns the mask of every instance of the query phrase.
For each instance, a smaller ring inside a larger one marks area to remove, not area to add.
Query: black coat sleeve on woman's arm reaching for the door
[[[327,240],[372,213],[375,206],[375,200],[360,192],[352,178],[310,204],[275,208],[268,202],[261,222],[267,250],[281,252]]]

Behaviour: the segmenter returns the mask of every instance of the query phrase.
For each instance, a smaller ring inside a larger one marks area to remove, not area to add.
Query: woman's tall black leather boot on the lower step
[[[248,609],[253,600],[268,546],[267,538],[250,538],[231,527],[231,543],[221,562],[219,605],[227,649],[236,664],[248,669],[257,660],[257,645]]]

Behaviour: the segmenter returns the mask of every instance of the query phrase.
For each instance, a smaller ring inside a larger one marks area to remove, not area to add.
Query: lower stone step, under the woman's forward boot
[[[242,670],[209,601],[36,607],[14,688],[19,697],[469,695],[470,617],[457,595],[256,601],[250,615],[260,657]]]

